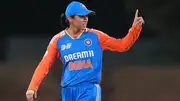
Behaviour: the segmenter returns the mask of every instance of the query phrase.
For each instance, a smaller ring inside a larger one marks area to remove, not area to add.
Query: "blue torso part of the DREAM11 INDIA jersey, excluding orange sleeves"
[[[78,38],[71,38],[66,30],[57,40],[57,48],[64,64],[62,86],[81,82],[100,82],[102,52],[98,36],[84,31]]]

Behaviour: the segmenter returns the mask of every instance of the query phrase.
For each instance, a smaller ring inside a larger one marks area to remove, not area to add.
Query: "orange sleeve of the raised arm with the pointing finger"
[[[137,40],[141,30],[142,30],[142,26],[140,27],[133,26],[129,29],[128,34],[124,38],[116,39],[108,36],[106,33],[102,31],[96,29],[89,29],[90,32],[94,32],[97,34],[103,50],[111,50],[118,52],[127,51]]]

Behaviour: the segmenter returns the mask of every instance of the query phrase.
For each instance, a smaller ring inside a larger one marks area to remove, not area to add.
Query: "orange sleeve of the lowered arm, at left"
[[[49,69],[51,68],[53,63],[57,60],[57,58],[60,56],[57,49],[57,40],[64,35],[65,35],[64,32],[61,32],[59,34],[56,34],[51,39],[41,62],[38,64],[33,74],[28,89],[32,89],[35,91],[38,90],[39,85],[42,82],[43,78],[48,74]]]

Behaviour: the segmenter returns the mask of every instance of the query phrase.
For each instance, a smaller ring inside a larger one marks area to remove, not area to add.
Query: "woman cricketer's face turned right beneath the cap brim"
[[[77,29],[83,30],[87,27],[88,16],[75,15],[74,17],[68,17],[69,24]]]

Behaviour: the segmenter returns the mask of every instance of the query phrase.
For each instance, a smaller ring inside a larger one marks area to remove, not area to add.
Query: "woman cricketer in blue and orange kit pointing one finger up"
[[[88,15],[95,14],[84,4],[72,1],[66,8],[69,26],[56,34],[47,46],[26,92],[28,101],[37,98],[38,87],[57,59],[63,63],[62,101],[101,101],[101,72],[104,50],[127,51],[137,40],[144,20],[136,10],[134,22],[124,38],[87,28]]]

